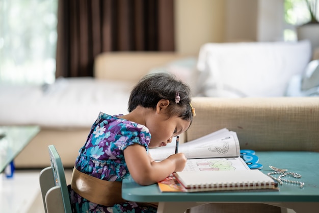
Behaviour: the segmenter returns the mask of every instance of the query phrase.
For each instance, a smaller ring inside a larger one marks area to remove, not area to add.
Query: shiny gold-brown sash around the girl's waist
[[[96,204],[113,206],[122,199],[122,182],[101,180],[73,168],[71,187],[79,196]]]

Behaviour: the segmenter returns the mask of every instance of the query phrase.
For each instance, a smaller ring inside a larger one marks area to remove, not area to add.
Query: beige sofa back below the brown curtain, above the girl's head
[[[138,82],[150,69],[178,58],[175,52],[105,52],[95,58],[94,77]]]

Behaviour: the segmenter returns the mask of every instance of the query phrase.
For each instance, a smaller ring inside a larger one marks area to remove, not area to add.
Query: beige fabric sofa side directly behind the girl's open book
[[[190,141],[222,128],[237,133],[241,149],[319,152],[318,98],[203,98],[186,132]]]

